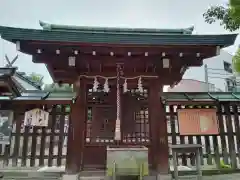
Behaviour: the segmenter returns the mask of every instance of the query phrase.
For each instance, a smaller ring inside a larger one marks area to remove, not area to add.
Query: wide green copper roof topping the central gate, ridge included
[[[192,35],[187,29],[125,29],[61,26],[40,23],[43,29],[24,29],[0,26],[3,39],[16,41],[55,41],[73,43],[123,45],[212,45],[227,47],[237,34]]]

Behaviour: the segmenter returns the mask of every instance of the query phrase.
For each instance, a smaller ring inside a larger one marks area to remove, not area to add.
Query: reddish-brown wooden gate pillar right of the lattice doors
[[[152,170],[157,173],[168,173],[168,137],[165,109],[160,95],[161,81],[152,80],[149,85],[149,118],[150,118],[150,153]]]

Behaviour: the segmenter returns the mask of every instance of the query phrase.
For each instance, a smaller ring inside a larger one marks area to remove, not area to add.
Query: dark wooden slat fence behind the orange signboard
[[[179,134],[177,109],[183,108],[216,108],[219,135],[188,135]],[[220,162],[230,164],[232,168],[237,168],[240,159],[240,105],[227,102],[219,103],[216,106],[181,106],[166,105],[166,115],[168,120],[168,142],[169,144],[202,144],[202,165],[216,166],[220,168]],[[169,152],[172,160],[172,152]],[[191,166],[195,164],[194,155],[191,153],[179,154],[179,164]]]

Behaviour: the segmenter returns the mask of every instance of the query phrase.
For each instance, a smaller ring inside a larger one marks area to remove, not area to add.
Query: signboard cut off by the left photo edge
[[[0,144],[10,144],[13,111],[0,110]]]

